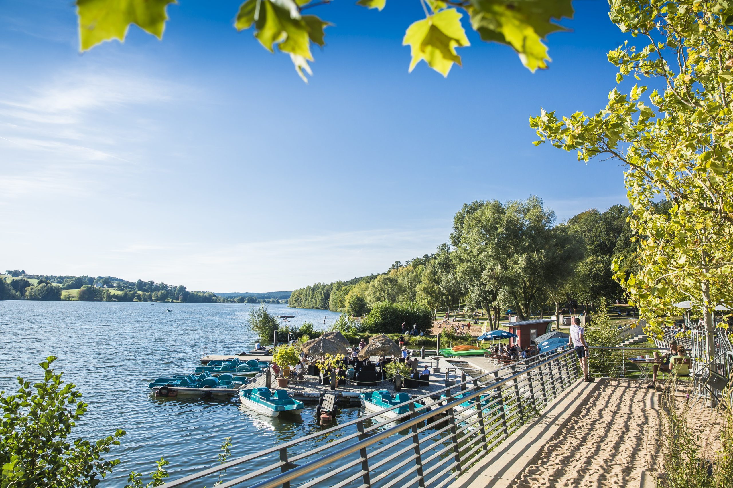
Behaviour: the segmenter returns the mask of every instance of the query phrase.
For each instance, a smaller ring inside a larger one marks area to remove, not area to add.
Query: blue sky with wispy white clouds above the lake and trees
[[[2,269],[294,289],[432,252],[474,199],[537,195],[559,221],[626,202],[616,163],[528,127],[605,106],[626,39],[605,1],[574,2],[548,70],[467,29],[447,78],[408,73],[419,1],[354,3],[312,10],[335,26],[304,84],[235,31],[237,1],[180,0],[162,42],[133,26],[79,53],[73,2],[0,0]]]

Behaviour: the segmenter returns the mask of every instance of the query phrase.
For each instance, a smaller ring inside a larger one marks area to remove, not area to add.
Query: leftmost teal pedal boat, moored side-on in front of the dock
[[[202,374],[177,374],[171,378],[157,378],[148,385],[155,396],[233,396],[249,379],[231,373],[213,377],[208,372]]]

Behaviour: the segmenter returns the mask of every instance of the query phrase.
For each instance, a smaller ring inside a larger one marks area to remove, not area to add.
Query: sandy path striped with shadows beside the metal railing
[[[658,410],[638,382],[605,380],[512,487],[631,487],[655,456]]]

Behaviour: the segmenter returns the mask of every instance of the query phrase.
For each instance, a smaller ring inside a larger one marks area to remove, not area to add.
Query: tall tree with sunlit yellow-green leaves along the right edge
[[[596,114],[530,120],[542,144],[626,165],[638,270],[616,278],[649,333],[691,300],[712,342],[712,309],[733,306],[733,4],[718,0],[613,0],[611,21],[636,40],[608,53],[616,83],[651,78],[628,95],[616,86]],[[667,212],[657,211],[665,199]]]

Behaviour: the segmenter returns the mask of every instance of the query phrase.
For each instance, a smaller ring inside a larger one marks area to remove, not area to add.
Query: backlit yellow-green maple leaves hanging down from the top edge
[[[392,1],[398,0],[390,0]],[[548,67],[550,56],[542,42],[564,30],[556,21],[572,18],[571,0],[399,0],[419,2],[425,17],[408,26],[402,45],[410,47],[410,71],[421,61],[447,76],[453,64],[461,64],[456,48],[470,45],[464,23],[487,42],[509,45],[531,71]],[[139,26],[158,39],[168,21],[169,4],[176,0],[76,0],[81,51],[106,40],[124,41],[130,25]],[[254,37],[270,52],[275,48],[290,56],[298,75],[312,75],[312,45],[325,45],[325,28],[332,26],[306,14],[331,0],[246,0],[236,12],[237,31],[254,31]],[[387,0],[358,0],[369,9],[383,10]],[[234,15],[235,12],[232,12]],[[465,20],[464,20],[465,19]]]

